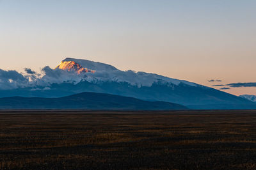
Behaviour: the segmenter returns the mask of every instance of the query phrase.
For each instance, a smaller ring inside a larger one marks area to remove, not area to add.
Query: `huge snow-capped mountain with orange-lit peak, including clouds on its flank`
[[[42,72],[44,75],[38,77],[33,72],[22,75],[0,70],[0,97],[56,98],[95,92],[171,102],[191,109],[256,109],[254,102],[194,82],[155,73],[122,71],[86,59],[66,58],[54,69],[45,66]]]

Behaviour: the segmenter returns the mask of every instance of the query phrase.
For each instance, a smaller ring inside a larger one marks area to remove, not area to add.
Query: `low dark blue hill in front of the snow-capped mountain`
[[[168,102],[148,102],[104,93],[79,93],[61,98],[0,98],[0,109],[184,110]]]

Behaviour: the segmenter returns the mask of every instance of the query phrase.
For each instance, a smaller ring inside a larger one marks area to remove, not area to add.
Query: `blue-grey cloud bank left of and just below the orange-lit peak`
[[[67,70],[52,69],[49,66],[42,68],[42,76],[40,73],[36,73],[30,68],[24,68],[24,70],[28,75],[22,75],[22,73],[15,70],[0,69],[0,89],[6,90],[30,87],[32,91],[39,89],[49,90],[49,86],[54,83],[60,84],[67,82],[77,84],[88,78],[85,74],[78,75],[72,71],[68,72]]]

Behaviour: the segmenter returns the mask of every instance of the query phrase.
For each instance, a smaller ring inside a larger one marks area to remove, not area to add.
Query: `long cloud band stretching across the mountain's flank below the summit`
[[[132,86],[138,87],[152,86],[152,84],[155,82],[163,82],[171,85],[179,85],[180,83],[184,83],[191,86],[196,86],[196,84],[192,82],[179,81],[177,79],[163,77],[154,73],[134,72],[132,70],[110,70],[108,72],[97,70],[95,73],[87,72],[79,74],[72,70],[61,70],[59,68],[52,69],[49,66],[45,66],[40,72],[42,75],[31,70],[31,68],[24,68],[24,70],[26,72],[24,74],[15,70],[1,70],[0,89],[29,87],[32,91],[35,91],[42,90],[44,87],[51,87],[52,84],[77,84],[81,81],[88,81],[92,83],[101,83],[105,81],[128,82]]]

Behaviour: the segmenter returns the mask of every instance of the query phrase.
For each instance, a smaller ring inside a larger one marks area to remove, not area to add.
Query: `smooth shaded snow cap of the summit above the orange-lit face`
[[[66,58],[63,60],[65,61],[74,61],[75,63],[81,65],[83,68],[88,68],[90,70],[96,70],[96,71],[114,71],[118,70],[115,68],[115,66],[111,66],[104,63],[99,63],[95,61],[90,61],[87,59],[76,59],[76,58]]]

